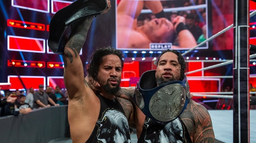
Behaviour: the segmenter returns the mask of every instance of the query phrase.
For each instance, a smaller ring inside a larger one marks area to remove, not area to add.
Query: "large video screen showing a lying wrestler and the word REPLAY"
[[[116,9],[120,50],[188,50],[209,37],[205,0],[117,0]]]

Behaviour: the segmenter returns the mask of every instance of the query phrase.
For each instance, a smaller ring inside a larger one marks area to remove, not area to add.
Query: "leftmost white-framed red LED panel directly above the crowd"
[[[20,79],[22,80],[26,88],[33,87],[34,89],[38,89],[38,86],[40,84],[45,85],[45,76],[20,76]],[[8,83],[11,83],[10,90],[24,88],[21,84],[20,79],[16,75],[8,76]]]

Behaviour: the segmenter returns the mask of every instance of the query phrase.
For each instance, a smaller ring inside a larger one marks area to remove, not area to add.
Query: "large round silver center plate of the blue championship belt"
[[[152,96],[149,111],[159,121],[171,121],[180,115],[185,100],[185,88],[181,84],[167,85]]]

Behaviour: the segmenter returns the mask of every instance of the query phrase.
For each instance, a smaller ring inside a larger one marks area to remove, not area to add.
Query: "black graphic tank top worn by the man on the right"
[[[180,118],[157,122],[146,117],[138,143],[191,143],[189,133]]]

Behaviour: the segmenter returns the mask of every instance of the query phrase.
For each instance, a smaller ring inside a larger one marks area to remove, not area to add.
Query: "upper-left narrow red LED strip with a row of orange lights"
[[[17,27],[17,28],[25,28],[25,29],[33,29],[33,30],[40,30],[40,31],[45,30],[45,25],[44,24],[18,21],[18,20],[12,20],[12,19],[7,20],[7,26]]]

